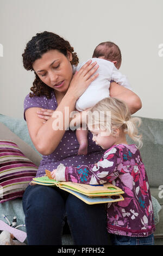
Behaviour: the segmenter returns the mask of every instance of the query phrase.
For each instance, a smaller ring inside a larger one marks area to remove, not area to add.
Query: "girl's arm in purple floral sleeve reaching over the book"
[[[96,164],[79,167],[62,166],[62,169],[53,170],[51,175],[57,181],[72,181],[89,185],[103,184],[117,178],[119,173],[117,167],[120,162],[119,150],[115,147],[107,150]]]

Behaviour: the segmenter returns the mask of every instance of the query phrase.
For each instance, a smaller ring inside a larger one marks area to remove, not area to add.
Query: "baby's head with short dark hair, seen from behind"
[[[101,58],[114,63],[117,69],[120,69],[122,56],[120,48],[114,42],[101,42],[97,45],[92,58]]]

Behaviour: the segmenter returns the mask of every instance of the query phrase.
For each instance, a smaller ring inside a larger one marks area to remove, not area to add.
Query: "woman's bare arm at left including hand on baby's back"
[[[37,115],[37,111],[41,111],[41,108],[28,108],[25,112],[30,138],[40,154],[49,155],[58,147],[70,123],[70,113],[74,111],[77,99],[98,76],[98,74],[94,75],[98,69],[98,66],[95,65],[95,62],[92,64],[87,62],[73,76],[67,92],[65,92],[57,109],[45,124],[43,119]],[[60,121],[61,127],[59,127],[57,121]],[[59,127],[58,130],[57,127]]]

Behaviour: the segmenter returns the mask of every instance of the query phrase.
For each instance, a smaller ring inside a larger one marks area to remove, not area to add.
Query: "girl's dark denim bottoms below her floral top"
[[[154,236],[134,237],[110,234],[113,245],[154,245]]]

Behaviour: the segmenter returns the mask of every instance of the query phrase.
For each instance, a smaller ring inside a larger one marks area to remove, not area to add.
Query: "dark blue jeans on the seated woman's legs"
[[[28,245],[61,245],[65,221],[74,245],[109,245],[105,204],[89,205],[58,187],[28,186],[23,194]]]

